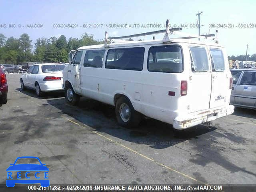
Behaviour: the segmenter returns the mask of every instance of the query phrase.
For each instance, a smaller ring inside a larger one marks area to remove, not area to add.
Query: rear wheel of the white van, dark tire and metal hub
[[[134,110],[130,100],[122,96],[116,102],[116,119],[121,126],[136,128],[140,123],[141,115]]]

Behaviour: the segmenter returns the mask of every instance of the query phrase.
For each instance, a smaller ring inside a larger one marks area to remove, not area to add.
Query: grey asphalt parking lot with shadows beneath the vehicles
[[[183,131],[144,120],[118,126],[114,108],[64,94],[38,98],[7,74],[8,103],[0,106],[0,183],[19,156],[37,156],[50,184],[255,184],[256,111],[236,108],[211,127]]]

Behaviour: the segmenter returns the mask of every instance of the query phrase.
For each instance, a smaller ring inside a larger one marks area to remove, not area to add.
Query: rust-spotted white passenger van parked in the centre
[[[126,127],[146,116],[185,129],[232,114],[224,47],[190,38],[78,48],[63,70],[67,102],[86,96],[113,105]]]

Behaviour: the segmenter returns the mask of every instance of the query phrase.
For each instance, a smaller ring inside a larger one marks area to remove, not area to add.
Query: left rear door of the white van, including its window
[[[210,58],[207,47],[189,46],[191,70],[188,82],[189,112],[209,109],[211,96]]]

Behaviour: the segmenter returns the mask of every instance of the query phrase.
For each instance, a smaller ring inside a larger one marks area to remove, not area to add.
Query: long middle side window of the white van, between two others
[[[105,68],[136,70],[143,69],[144,47],[120,48],[108,50]]]

